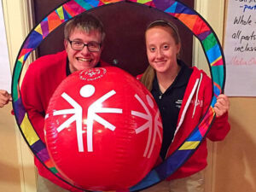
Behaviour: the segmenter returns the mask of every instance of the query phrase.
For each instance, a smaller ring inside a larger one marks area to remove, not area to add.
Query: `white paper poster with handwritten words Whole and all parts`
[[[224,36],[227,96],[256,96],[256,0],[229,0]]]

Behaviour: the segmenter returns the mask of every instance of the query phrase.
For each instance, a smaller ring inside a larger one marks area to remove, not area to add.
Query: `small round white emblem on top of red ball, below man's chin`
[[[84,69],[79,73],[79,77],[82,80],[93,81],[102,78],[107,73],[105,68],[91,68]]]

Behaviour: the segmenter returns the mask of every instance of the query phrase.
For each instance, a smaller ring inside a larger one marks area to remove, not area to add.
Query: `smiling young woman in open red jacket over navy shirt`
[[[149,66],[143,84],[151,91],[163,120],[163,143],[160,160],[175,151],[201,120],[212,100],[212,80],[196,67],[187,67],[178,59],[181,42],[177,27],[165,20],[151,23],[146,32]],[[207,138],[223,140],[230,131],[228,122],[229,99],[218,96],[214,106],[215,119]],[[189,160],[166,181],[145,191],[204,191],[204,173],[207,166],[207,140],[204,140]]]

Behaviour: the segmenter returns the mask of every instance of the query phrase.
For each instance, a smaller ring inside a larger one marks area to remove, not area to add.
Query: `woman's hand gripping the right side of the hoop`
[[[216,117],[219,117],[226,113],[230,109],[230,100],[228,96],[225,96],[224,94],[220,94],[217,97],[217,102],[215,103],[213,107]]]

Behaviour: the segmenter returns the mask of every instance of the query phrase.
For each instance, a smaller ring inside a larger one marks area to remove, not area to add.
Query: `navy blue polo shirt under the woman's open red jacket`
[[[160,156],[164,160],[167,150],[172,143],[174,132],[177,127],[177,118],[180,111],[183,96],[189,83],[189,78],[193,69],[186,66],[183,61],[177,61],[181,67],[176,79],[168,87],[165,93],[160,91],[156,76],[154,77],[153,87],[151,90],[154,100],[157,103],[161,118],[163,121],[163,143],[160,150]]]

